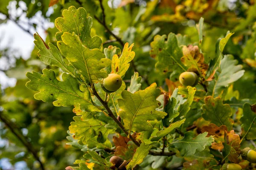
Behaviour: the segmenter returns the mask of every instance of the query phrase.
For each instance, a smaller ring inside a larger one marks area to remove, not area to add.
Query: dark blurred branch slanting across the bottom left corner
[[[32,153],[34,158],[39,162],[41,169],[45,170],[44,164],[39,159],[37,151],[34,149],[32,144],[30,142],[28,142],[28,139],[26,138],[26,136],[21,135],[22,133],[21,133],[20,129],[18,129],[17,127],[15,128],[15,125],[13,125],[13,123],[3,115],[3,112],[0,112],[0,119],[2,120],[2,122],[5,123],[5,125],[7,127],[9,127],[9,129],[12,131],[12,133],[20,140],[20,142],[27,148],[27,150],[30,153]]]

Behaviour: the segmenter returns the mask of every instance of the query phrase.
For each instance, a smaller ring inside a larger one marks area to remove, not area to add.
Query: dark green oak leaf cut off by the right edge
[[[256,104],[245,103],[243,107],[243,116],[240,119],[243,139],[256,139]]]

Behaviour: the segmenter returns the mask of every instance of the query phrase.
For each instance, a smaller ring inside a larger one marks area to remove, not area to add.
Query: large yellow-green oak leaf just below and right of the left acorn
[[[165,112],[156,111],[159,102],[156,100],[160,95],[160,89],[153,83],[145,90],[140,90],[132,94],[129,91],[122,92],[122,98],[118,99],[120,108],[119,115],[124,122],[125,129],[141,132],[152,130],[149,120],[160,120],[166,116]]]

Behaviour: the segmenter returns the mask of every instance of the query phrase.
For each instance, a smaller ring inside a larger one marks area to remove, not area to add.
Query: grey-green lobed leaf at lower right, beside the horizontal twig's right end
[[[211,146],[214,138],[206,136],[207,132],[204,132],[194,138],[194,132],[187,132],[184,134],[183,139],[171,144],[180,151],[181,156],[192,156],[196,152],[202,152],[205,147]]]

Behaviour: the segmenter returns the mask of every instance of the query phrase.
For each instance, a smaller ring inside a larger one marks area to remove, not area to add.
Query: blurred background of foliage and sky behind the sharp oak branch
[[[144,88],[157,82],[163,90],[172,91],[177,79],[154,70],[150,42],[156,34],[170,32],[186,35],[183,38],[187,42],[196,42],[195,25],[204,17],[202,49],[210,54],[205,59],[215,54],[219,36],[224,37],[228,30],[235,32],[224,54],[233,54],[246,72],[233,91],[237,91],[234,93],[237,99],[256,98],[255,0],[102,0],[102,3],[106,25],[123,42],[135,43],[136,69],[132,67],[124,79],[130,79],[138,71]],[[38,32],[47,43],[56,44],[54,20],[69,6],[84,7],[87,15],[93,17],[91,34],[102,38],[102,50],[108,45],[120,47],[95,19],[95,16],[102,18],[99,0],[0,0],[0,170],[37,170],[38,160],[47,170],[63,170],[82,158],[82,148],[70,147],[68,143],[74,142],[67,133],[74,116],[72,108],[37,101],[33,98],[35,92],[25,86],[27,71],[50,68],[61,75],[61,70],[45,65],[38,58],[33,34]],[[179,166],[171,161],[165,168]],[[147,169],[161,167],[154,164]]]

